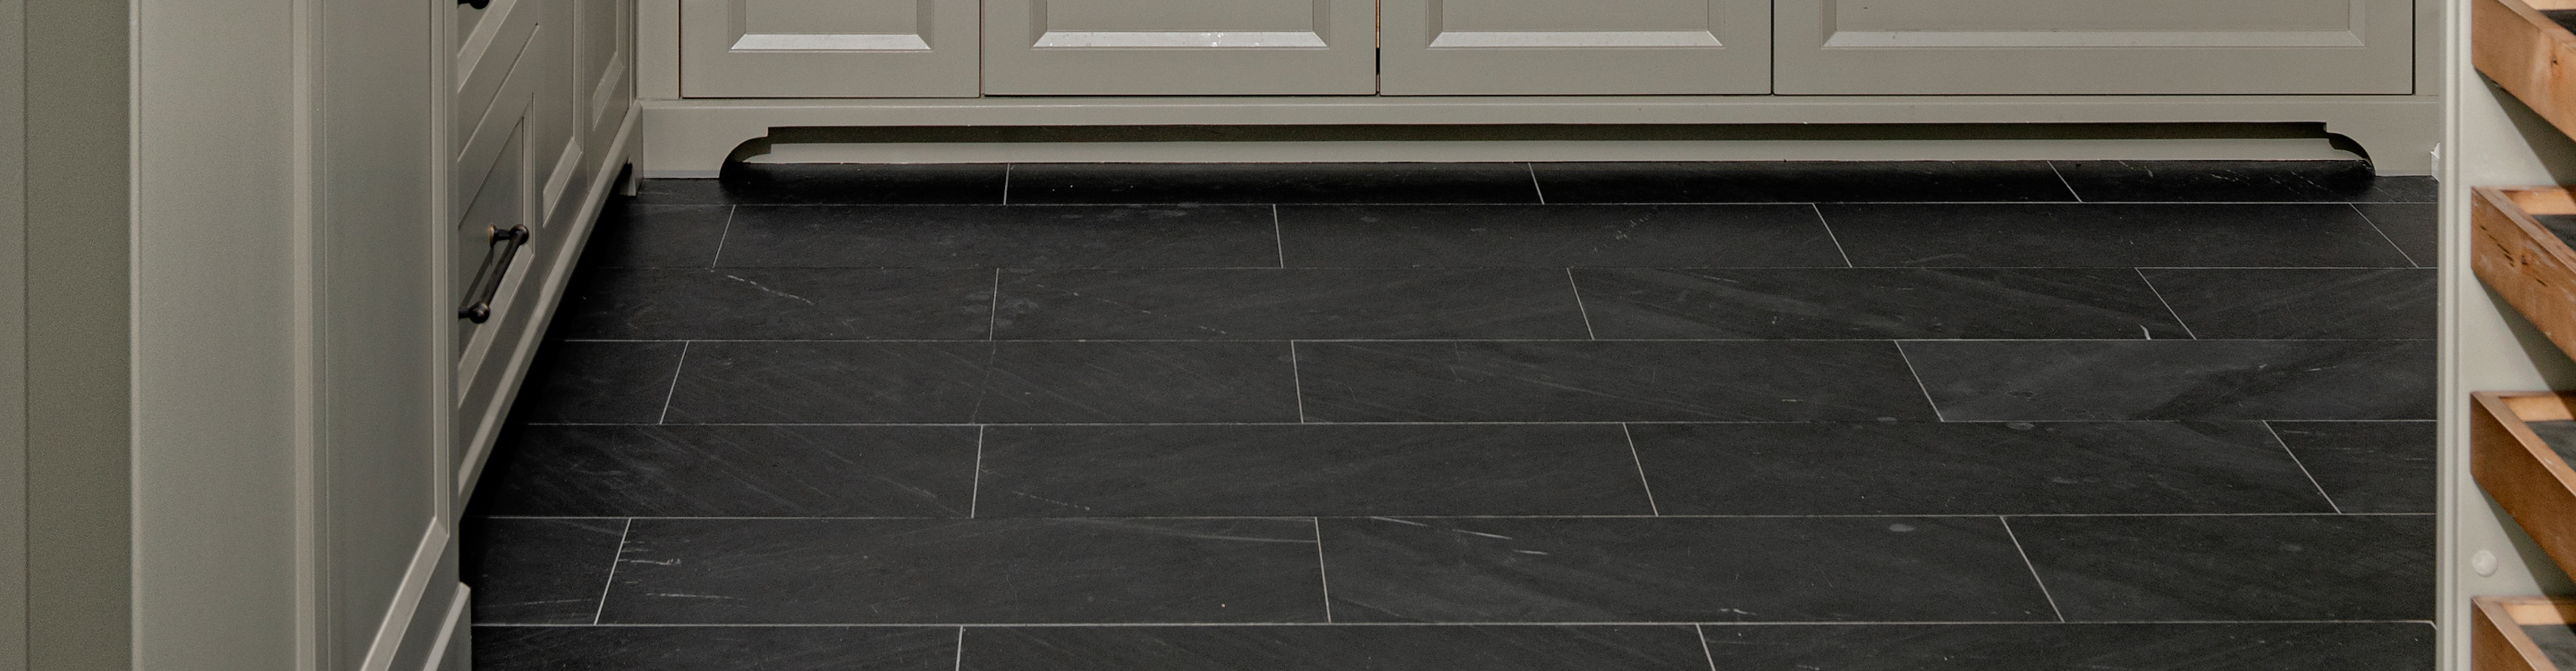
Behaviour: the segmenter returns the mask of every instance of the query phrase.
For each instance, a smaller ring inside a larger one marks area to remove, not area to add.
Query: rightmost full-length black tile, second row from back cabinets
[[[2409,267],[2342,203],[1819,206],[1852,265]],[[739,216],[737,216],[739,219]],[[739,224],[737,224],[739,226]]]

